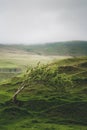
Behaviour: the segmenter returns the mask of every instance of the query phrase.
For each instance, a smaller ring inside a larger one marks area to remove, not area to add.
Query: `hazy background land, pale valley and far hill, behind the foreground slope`
[[[87,56],[87,41],[36,45],[0,44],[0,81],[4,78],[13,77],[24,71],[27,66],[33,67],[38,62],[47,64],[56,59],[61,60],[78,56]],[[5,72],[4,69],[8,69],[8,71]]]

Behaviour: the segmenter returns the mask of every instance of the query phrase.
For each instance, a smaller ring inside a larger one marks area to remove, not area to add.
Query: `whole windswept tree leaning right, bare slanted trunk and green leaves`
[[[32,69],[27,69],[20,88],[15,92],[13,101],[17,101],[18,94],[25,88],[32,84],[43,84],[51,87],[58,92],[67,92],[68,87],[72,86],[72,80],[66,74],[58,73],[58,66],[43,65],[39,63]]]

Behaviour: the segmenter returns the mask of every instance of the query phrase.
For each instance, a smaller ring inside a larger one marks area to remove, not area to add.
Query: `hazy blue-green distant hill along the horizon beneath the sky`
[[[37,45],[0,45],[0,49],[20,49],[38,55],[86,56],[87,41],[66,41]]]

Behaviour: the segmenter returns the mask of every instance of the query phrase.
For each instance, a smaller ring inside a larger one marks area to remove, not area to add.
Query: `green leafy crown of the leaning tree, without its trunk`
[[[57,66],[37,65],[31,69],[28,75],[29,82],[44,84],[59,92],[66,92],[67,88],[72,86],[71,78],[64,73],[59,74]]]

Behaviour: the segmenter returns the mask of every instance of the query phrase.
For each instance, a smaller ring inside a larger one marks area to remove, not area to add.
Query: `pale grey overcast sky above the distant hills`
[[[0,0],[0,43],[87,40],[87,0]]]

